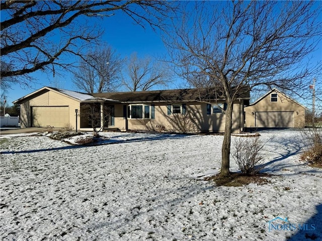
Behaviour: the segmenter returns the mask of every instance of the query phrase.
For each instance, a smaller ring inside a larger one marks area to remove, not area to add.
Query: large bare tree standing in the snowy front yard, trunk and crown
[[[297,94],[308,87],[306,80],[321,67],[303,61],[321,41],[321,8],[304,1],[192,4],[173,20],[165,42],[183,77],[214,87],[227,103],[220,175],[228,176],[233,102],[261,86]]]

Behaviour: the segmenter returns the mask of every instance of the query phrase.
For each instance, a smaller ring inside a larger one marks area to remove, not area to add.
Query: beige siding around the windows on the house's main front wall
[[[151,105],[151,103],[143,103]],[[176,103],[177,104],[177,103]],[[224,132],[225,114],[212,113],[207,115],[207,103],[189,102],[186,104],[186,115],[168,115],[168,104],[155,103],[154,119],[128,119],[128,130],[133,131],[168,131],[181,132]],[[188,115],[190,117],[188,117]],[[243,129],[243,105],[236,101],[233,106],[233,132]],[[121,131],[126,130],[126,119],[123,117],[123,105],[115,105],[115,125]]]

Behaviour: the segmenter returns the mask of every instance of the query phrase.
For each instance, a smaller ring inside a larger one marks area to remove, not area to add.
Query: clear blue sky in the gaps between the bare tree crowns
[[[320,2],[316,2],[321,6]],[[158,33],[152,31],[149,26],[143,29],[136,25],[133,20],[124,15],[121,11],[115,12],[114,16],[105,18],[100,22],[101,27],[105,30],[103,41],[112,46],[121,57],[130,56],[133,52],[137,52],[139,57],[144,55],[160,56],[166,55],[165,48],[161,37]],[[317,50],[312,53],[313,59],[322,61],[322,43],[319,43]],[[35,72],[33,76],[38,80],[32,85],[32,88],[26,88],[18,84],[12,85],[12,89],[8,89],[6,93],[7,103],[12,104],[12,101],[27,95],[43,86],[52,86],[58,83],[59,88],[75,90],[71,81],[72,76],[66,74],[65,77],[56,75],[43,74],[40,71]],[[322,82],[322,76],[316,76],[318,82]],[[177,80],[175,80],[177,81]],[[179,84],[173,83],[173,88],[178,88]],[[320,86],[317,86],[319,88]],[[303,101],[300,101],[303,102]],[[305,104],[305,103],[304,103]]]

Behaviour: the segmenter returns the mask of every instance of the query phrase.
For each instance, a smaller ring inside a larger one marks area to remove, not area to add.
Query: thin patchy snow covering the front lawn
[[[114,144],[2,136],[2,240],[322,239],[322,170],[298,161],[295,131],[261,133],[274,176],[243,187],[197,178],[219,172],[222,136],[104,135]]]

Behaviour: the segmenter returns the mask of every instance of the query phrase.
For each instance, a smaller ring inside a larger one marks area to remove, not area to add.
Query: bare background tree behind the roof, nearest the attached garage
[[[120,80],[123,60],[110,46],[89,52],[73,72],[76,88],[87,93],[110,92]]]

